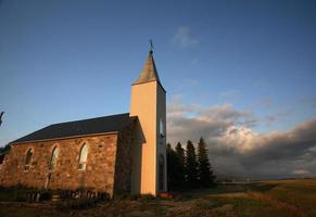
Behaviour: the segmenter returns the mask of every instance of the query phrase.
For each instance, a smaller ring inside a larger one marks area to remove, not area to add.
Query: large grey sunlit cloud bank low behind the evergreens
[[[241,179],[316,176],[316,118],[289,131],[256,133],[257,119],[250,111],[230,104],[203,107],[173,101],[167,105],[167,138],[175,144],[208,144],[218,176]]]

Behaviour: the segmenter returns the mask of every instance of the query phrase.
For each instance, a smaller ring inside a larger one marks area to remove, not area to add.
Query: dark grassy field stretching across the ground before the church
[[[3,196],[0,192],[0,201]],[[222,184],[215,189],[179,193],[173,200],[130,196],[92,207],[65,207],[51,203],[1,202],[0,216],[315,217],[316,179]]]

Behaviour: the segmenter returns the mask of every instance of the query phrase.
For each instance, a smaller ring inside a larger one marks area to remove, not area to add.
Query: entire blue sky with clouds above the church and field
[[[154,43],[167,140],[218,176],[316,176],[316,1],[0,1],[0,146],[129,111]]]

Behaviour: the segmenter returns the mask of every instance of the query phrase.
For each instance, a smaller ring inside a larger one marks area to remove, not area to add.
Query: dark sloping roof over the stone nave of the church
[[[129,113],[125,113],[91,119],[54,124],[22,137],[11,142],[11,144],[81,135],[121,131],[136,118],[137,117],[129,117]]]

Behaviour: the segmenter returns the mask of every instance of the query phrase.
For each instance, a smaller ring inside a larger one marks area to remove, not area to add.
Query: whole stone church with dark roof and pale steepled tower
[[[166,91],[150,51],[130,111],[53,124],[10,143],[0,184],[119,193],[166,191]]]

